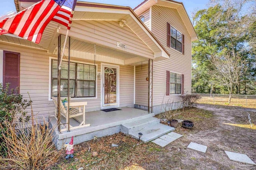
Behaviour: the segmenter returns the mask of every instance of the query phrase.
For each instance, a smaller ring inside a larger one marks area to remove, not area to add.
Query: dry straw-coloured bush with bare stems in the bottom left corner
[[[4,122],[8,131],[3,135],[7,156],[0,158],[0,169],[38,170],[56,162],[59,154],[52,143],[53,130],[44,121],[16,122],[16,126]],[[1,129],[3,128],[2,125]]]

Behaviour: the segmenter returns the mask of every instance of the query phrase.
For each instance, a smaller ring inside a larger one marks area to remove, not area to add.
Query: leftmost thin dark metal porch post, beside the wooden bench
[[[58,37],[58,67],[60,66],[60,51],[61,51],[61,35]],[[61,72],[58,69],[58,90],[57,90],[57,102],[58,102],[58,115],[57,115],[57,123],[58,123],[58,131],[60,132],[60,76]]]

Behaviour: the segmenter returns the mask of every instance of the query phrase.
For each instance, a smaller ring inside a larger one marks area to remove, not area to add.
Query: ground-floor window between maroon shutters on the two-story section
[[[170,94],[181,94],[182,74],[170,72]]]

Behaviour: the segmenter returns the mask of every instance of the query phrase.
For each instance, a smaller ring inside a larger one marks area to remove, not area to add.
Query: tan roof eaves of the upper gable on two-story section
[[[153,5],[175,8],[180,14],[180,17],[182,18],[186,28],[188,29],[188,32],[191,36],[192,41],[196,41],[198,39],[194,26],[182,2],[177,2],[174,0],[144,0],[141,4],[136,6],[133,10],[139,16],[140,14],[148,10],[148,8],[152,7]]]

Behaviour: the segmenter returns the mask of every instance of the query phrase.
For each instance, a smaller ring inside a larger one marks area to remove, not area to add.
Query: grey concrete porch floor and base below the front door
[[[120,132],[120,127],[124,123],[130,123],[132,121],[138,121],[153,117],[154,113],[148,113],[148,111],[142,109],[135,109],[132,107],[121,107],[121,110],[104,112],[101,110],[88,111],[85,113],[86,124],[90,123],[89,127],[82,127],[79,129],[71,130],[70,132],[59,133],[56,127],[57,120],[55,117],[50,117],[49,121],[52,127],[55,126],[54,140],[57,149],[64,147],[66,142],[70,141],[70,138],[74,136],[74,144],[82,143],[93,139],[94,136],[102,137],[107,135],[113,135]],[[82,120],[82,116],[76,117],[78,121]],[[62,117],[62,123],[65,123],[65,118]],[[70,125],[77,126],[80,123],[75,119],[70,119]]]

